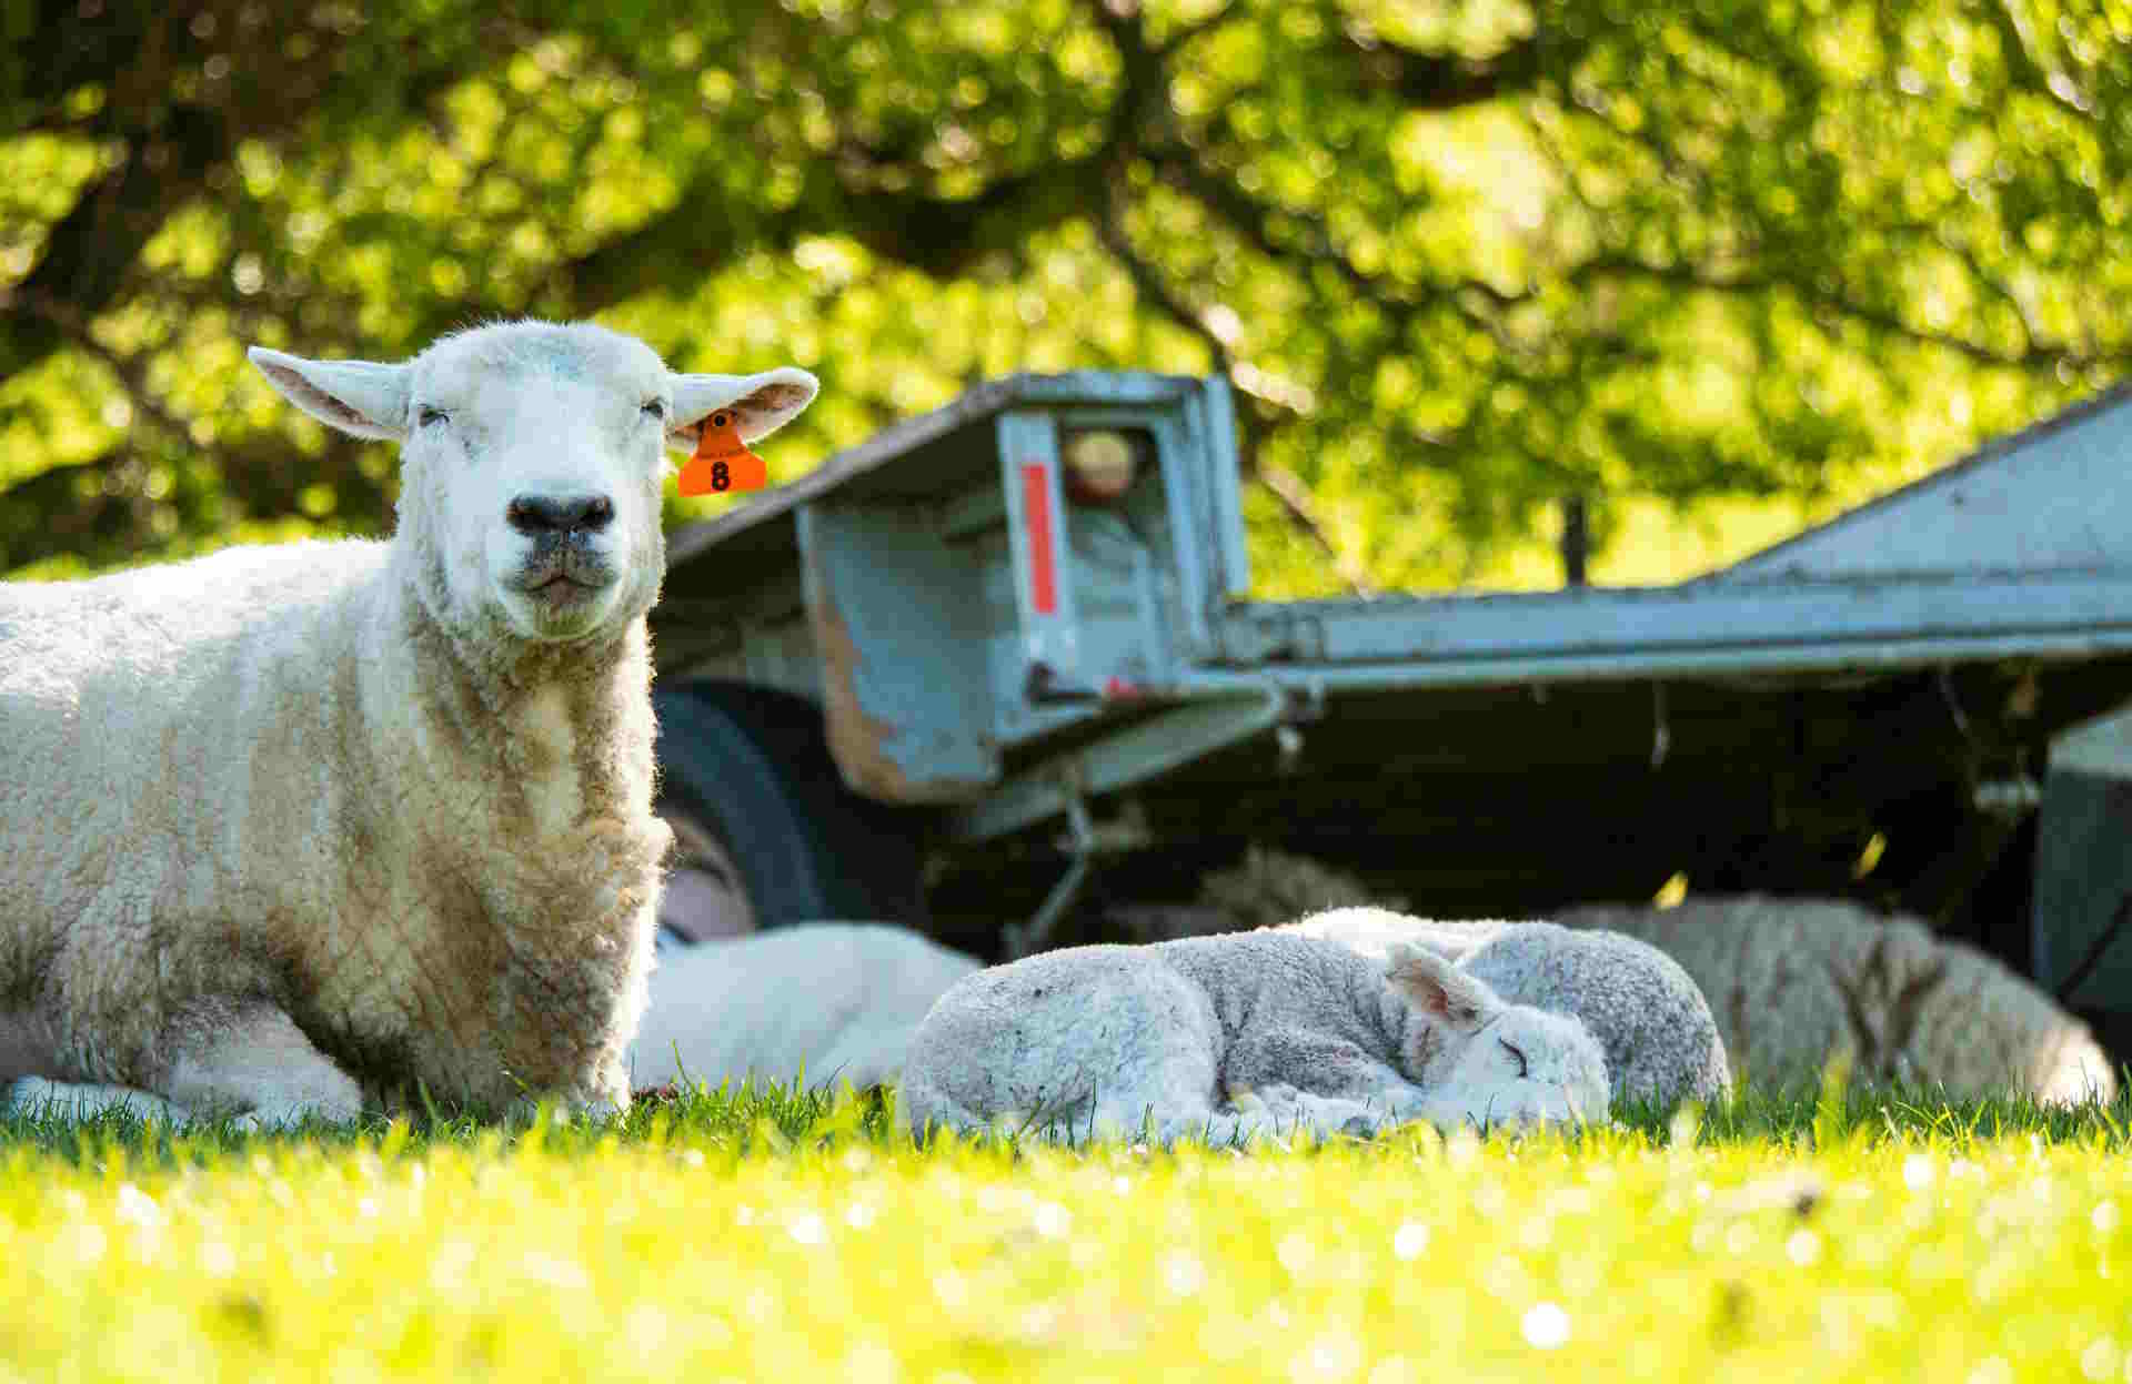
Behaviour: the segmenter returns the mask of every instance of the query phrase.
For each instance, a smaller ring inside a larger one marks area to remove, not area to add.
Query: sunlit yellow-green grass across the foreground
[[[870,1100],[0,1122],[0,1380],[2132,1378],[2132,1109],[1162,1154]]]

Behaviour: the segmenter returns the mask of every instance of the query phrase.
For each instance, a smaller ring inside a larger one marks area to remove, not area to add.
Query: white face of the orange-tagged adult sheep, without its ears
[[[401,525],[441,561],[452,610],[539,642],[648,610],[672,409],[659,356],[612,333],[505,326],[424,354]]]

